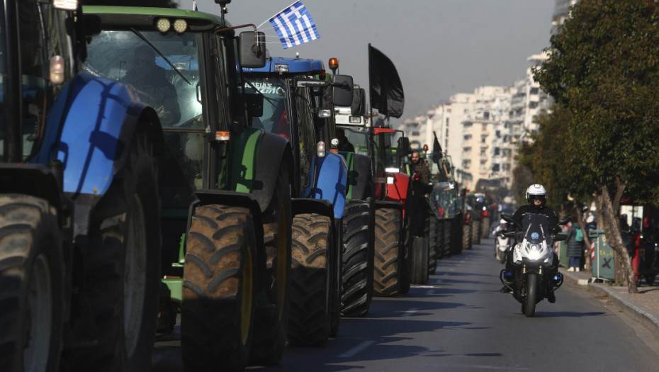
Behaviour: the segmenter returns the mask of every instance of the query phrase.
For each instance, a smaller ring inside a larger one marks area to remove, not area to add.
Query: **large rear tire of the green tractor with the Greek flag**
[[[281,167],[276,189],[264,212],[266,291],[268,306],[257,308],[249,363],[273,365],[281,361],[286,347],[291,292],[291,189],[288,170]]]

